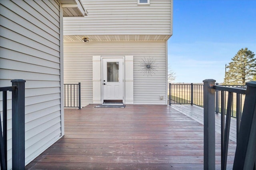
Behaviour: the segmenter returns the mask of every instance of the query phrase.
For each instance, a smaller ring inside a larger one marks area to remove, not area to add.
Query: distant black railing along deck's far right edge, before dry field
[[[218,85],[218,83],[216,83]],[[240,85],[220,85],[225,87],[236,87],[236,88],[246,88],[246,86]],[[228,92],[224,92],[224,103],[223,106],[226,110],[227,106],[227,98]],[[203,107],[204,100],[204,88],[203,84],[170,84],[169,83],[169,93],[168,93],[169,105],[171,104],[191,104]],[[234,100],[232,103],[232,111],[231,116],[236,117],[237,114],[242,113],[242,108],[244,106],[244,94],[237,94],[234,96]],[[216,100],[215,100],[215,112],[220,113],[221,111],[221,103],[220,103],[220,91],[216,90]]]

